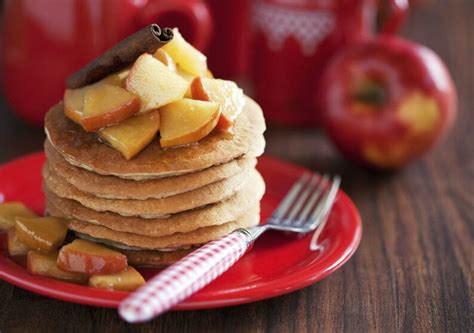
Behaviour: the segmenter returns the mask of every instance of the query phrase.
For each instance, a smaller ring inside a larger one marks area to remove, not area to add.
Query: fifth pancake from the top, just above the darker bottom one
[[[146,250],[160,248],[176,248],[207,243],[231,233],[239,228],[250,228],[260,221],[260,204],[249,209],[247,213],[236,221],[199,228],[188,233],[175,233],[163,237],[150,237],[127,232],[114,231],[106,227],[90,224],[80,220],[69,220],[68,228],[88,236],[117,242],[122,245]]]

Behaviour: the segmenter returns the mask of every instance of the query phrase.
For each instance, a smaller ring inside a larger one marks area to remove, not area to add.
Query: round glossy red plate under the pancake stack
[[[43,153],[15,160],[0,167],[0,202],[22,201],[38,213],[44,210],[41,191]],[[262,200],[262,221],[278,205],[286,191],[305,169],[269,157],[259,159],[258,169],[267,191]],[[311,235],[268,232],[237,264],[175,309],[205,309],[258,301],[289,293],[319,281],[341,267],[355,252],[362,235],[360,216],[352,201],[339,191],[321,235],[322,249],[309,248]],[[5,237],[0,237],[5,248]],[[145,277],[157,270],[145,269]],[[0,279],[32,292],[57,299],[116,307],[127,293],[93,289],[30,275],[0,253]]]

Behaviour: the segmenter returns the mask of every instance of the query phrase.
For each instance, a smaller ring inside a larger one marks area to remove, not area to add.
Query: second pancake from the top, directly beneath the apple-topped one
[[[215,183],[254,168],[255,158],[241,157],[196,173],[177,177],[134,181],[114,176],[103,176],[69,164],[48,140],[44,150],[49,166],[56,174],[78,190],[106,199],[161,199]]]

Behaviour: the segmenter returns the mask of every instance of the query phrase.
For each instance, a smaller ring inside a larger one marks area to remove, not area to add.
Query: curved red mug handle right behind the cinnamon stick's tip
[[[213,32],[213,19],[209,7],[202,0],[150,0],[141,10],[139,23],[142,26],[160,23],[160,17],[177,13],[183,15],[193,31],[190,42],[205,50]]]

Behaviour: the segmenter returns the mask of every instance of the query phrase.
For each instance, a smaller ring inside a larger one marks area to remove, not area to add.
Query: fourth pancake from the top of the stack
[[[110,212],[96,212],[74,200],[59,198],[48,190],[45,194],[46,207],[53,216],[73,218],[116,231],[160,237],[234,221],[255,206],[264,192],[265,183],[259,174],[255,174],[255,178],[250,178],[244,187],[230,198],[213,205],[173,214],[166,219],[142,219]]]

